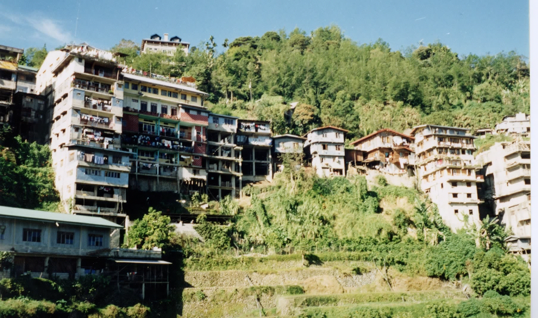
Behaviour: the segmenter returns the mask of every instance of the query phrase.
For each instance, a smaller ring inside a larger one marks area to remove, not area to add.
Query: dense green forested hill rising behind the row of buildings
[[[529,112],[529,68],[514,52],[458,55],[440,43],[394,52],[382,40],[358,44],[337,26],[270,31],[221,46],[211,37],[188,56],[140,56],[138,49],[128,40],[112,48],[130,54],[125,62],[134,68],[194,76],[211,93],[210,109],[270,119],[277,134],[321,125],[349,129],[349,139],[426,123],[477,129]],[[299,104],[288,118],[290,102]]]

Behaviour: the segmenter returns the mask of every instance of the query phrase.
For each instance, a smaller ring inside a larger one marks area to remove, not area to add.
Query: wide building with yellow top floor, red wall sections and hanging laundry
[[[131,189],[206,191],[207,93],[194,85],[124,73],[122,149]]]

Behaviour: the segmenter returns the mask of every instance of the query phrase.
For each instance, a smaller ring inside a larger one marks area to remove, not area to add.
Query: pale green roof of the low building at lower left
[[[58,222],[93,227],[123,228],[123,226],[121,225],[105,220],[103,218],[98,218],[97,216],[37,211],[9,206],[0,206],[0,217],[2,216],[6,218],[26,219],[44,222]]]

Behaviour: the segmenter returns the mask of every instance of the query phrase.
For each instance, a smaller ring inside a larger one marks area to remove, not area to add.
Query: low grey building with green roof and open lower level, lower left
[[[141,299],[165,298],[171,263],[161,260],[160,250],[119,248],[121,228],[94,216],[0,206],[0,251],[13,255],[13,267],[3,274],[60,279],[103,275],[118,287],[137,291]],[[146,288],[155,295],[146,294]]]

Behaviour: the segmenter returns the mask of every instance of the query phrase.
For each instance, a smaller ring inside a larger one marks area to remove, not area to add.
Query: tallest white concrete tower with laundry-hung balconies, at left
[[[120,147],[123,80],[115,56],[87,44],[49,52],[36,90],[47,99],[55,186],[66,210],[122,222],[130,163]]]

